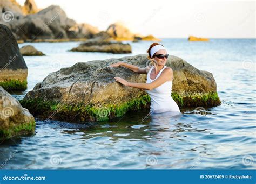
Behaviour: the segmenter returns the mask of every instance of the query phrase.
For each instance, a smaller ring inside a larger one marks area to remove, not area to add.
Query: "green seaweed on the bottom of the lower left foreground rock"
[[[0,129],[0,140],[9,139],[18,135],[25,135],[35,132],[36,122],[31,121],[28,123],[22,123],[18,125],[11,125],[6,129]]]

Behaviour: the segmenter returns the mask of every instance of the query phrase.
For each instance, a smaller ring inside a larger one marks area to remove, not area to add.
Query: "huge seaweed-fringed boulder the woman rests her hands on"
[[[109,67],[118,61],[139,67],[149,65],[147,55],[78,62],[50,73],[26,94],[21,103],[39,118],[70,122],[104,120],[122,116],[129,110],[149,107],[150,97],[144,90],[124,87],[114,80],[114,76],[119,76],[131,82],[145,83],[146,75],[123,67]],[[170,56],[166,65],[173,69],[172,97],[179,107],[220,104],[211,73],[198,70],[176,56]]]

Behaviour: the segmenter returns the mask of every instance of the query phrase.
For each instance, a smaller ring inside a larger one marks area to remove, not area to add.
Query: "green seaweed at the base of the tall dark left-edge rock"
[[[19,81],[19,80],[5,80],[0,81],[0,86],[2,86],[5,90],[24,90],[28,86],[28,82],[26,80]]]

